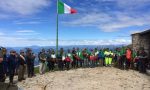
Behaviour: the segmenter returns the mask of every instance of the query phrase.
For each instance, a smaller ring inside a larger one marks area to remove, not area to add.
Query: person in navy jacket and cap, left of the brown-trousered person
[[[15,51],[11,50],[10,55],[8,57],[8,72],[9,72],[9,83],[13,84],[13,79],[15,75],[15,67],[16,67],[16,56]]]

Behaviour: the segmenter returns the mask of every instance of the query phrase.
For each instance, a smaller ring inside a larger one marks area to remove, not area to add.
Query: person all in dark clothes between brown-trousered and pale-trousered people
[[[34,76],[34,60],[35,60],[35,56],[32,53],[32,50],[28,49],[26,52],[26,62],[27,62],[27,71],[28,71],[29,78]]]

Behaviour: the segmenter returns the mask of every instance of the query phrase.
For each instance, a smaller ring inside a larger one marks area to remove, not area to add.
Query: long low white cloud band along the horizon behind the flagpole
[[[5,37],[0,36],[1,46],[16,47],[16,46],[55,46],[56,40],[41,39],[41,38],[23,38],[23,37]],[[59,45],[121,45],[131,44],[131,40],[112,39],[112,40],[59,40]]]

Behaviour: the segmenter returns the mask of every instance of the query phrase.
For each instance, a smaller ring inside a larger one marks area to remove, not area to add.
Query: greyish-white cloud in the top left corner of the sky
[[[20,15],[31,15],[49,4],[49,0],[0,0],[0,10]]]

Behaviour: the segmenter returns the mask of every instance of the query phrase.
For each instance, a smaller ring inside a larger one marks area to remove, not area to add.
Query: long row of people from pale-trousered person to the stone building
[[[61,48],[56,53],[54,49],[49,49],[47,52],[43,49],[39,53],[40,74],[45,73],[46,67],[48,67],[49,71],[53,71],[57,66],[59,70],[80,67],[115,66],[124,70],[135,69],[141,73],[145,73],[146,68],[150,65],[148,54],[142,47],[139,50],[132,50],[129,47],[121,47],[114,50],[110,50],[109,48],[73,48],[64,50]]]

